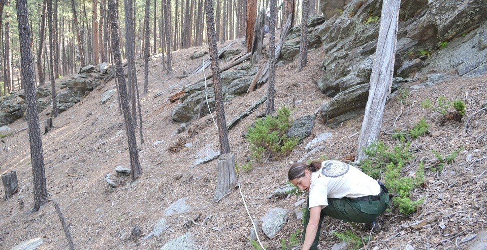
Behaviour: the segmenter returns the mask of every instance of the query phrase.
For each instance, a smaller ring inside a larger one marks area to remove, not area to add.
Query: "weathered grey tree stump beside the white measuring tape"
[[[214,201],[219,201],[231,193],[237,186],[237,172],[235,172],[235,156],[232,153],[222,154],[218,158],[216,190]]]

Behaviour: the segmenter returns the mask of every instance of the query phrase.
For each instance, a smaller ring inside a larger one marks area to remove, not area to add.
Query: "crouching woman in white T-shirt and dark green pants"
[[[365,223],[374,232],[380,230],[375,219],[389,205],[387,189],[354,166],[337,160],[313,161],[309,165],[296,162],[287,177],[301,191],[309,191],[303,249],[318,249],[325,215],[345,222]]]

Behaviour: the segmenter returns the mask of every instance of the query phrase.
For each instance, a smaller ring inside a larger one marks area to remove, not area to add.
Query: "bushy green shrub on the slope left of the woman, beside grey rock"
[[[286,107],[277,110],[277,116],[266,116],[248,129],[252,157],[261,161],[264,157],[275,158],[288,154],[298,145],[298,139],[287,137],[291,127],[290,111]]]

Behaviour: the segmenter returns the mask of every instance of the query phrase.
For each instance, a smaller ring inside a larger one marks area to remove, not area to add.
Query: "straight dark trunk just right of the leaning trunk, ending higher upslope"
[[[137,106],[136,106],[136,87],[137,73],[135,71],[135,30],[133,8],[134,2],[132,0],[124,0],[125,10],[125,50],[127,55],[127,71],[128,71],[128,99],[131,103],[132,120],[137,121]],[[135,123],[134,123],[135,124]]]

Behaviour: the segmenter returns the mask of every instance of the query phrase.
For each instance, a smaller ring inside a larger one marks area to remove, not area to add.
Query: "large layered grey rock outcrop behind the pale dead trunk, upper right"
[[[321,115],[329,122],[337,124],[360,115],[365,108],[381,6],[379,0],[320,1],[326,21],[313,34],[321,37],[326,54],[317,85],[322,93],[336,96],[321,108]],[[482,0],[404,1],[399,13],[394,75],[412,78],[431,71],[455,71],[460,76],[485,74],[486,29],[487,5]],[[293,56],[292,50],[289,53],[288,58]]]

